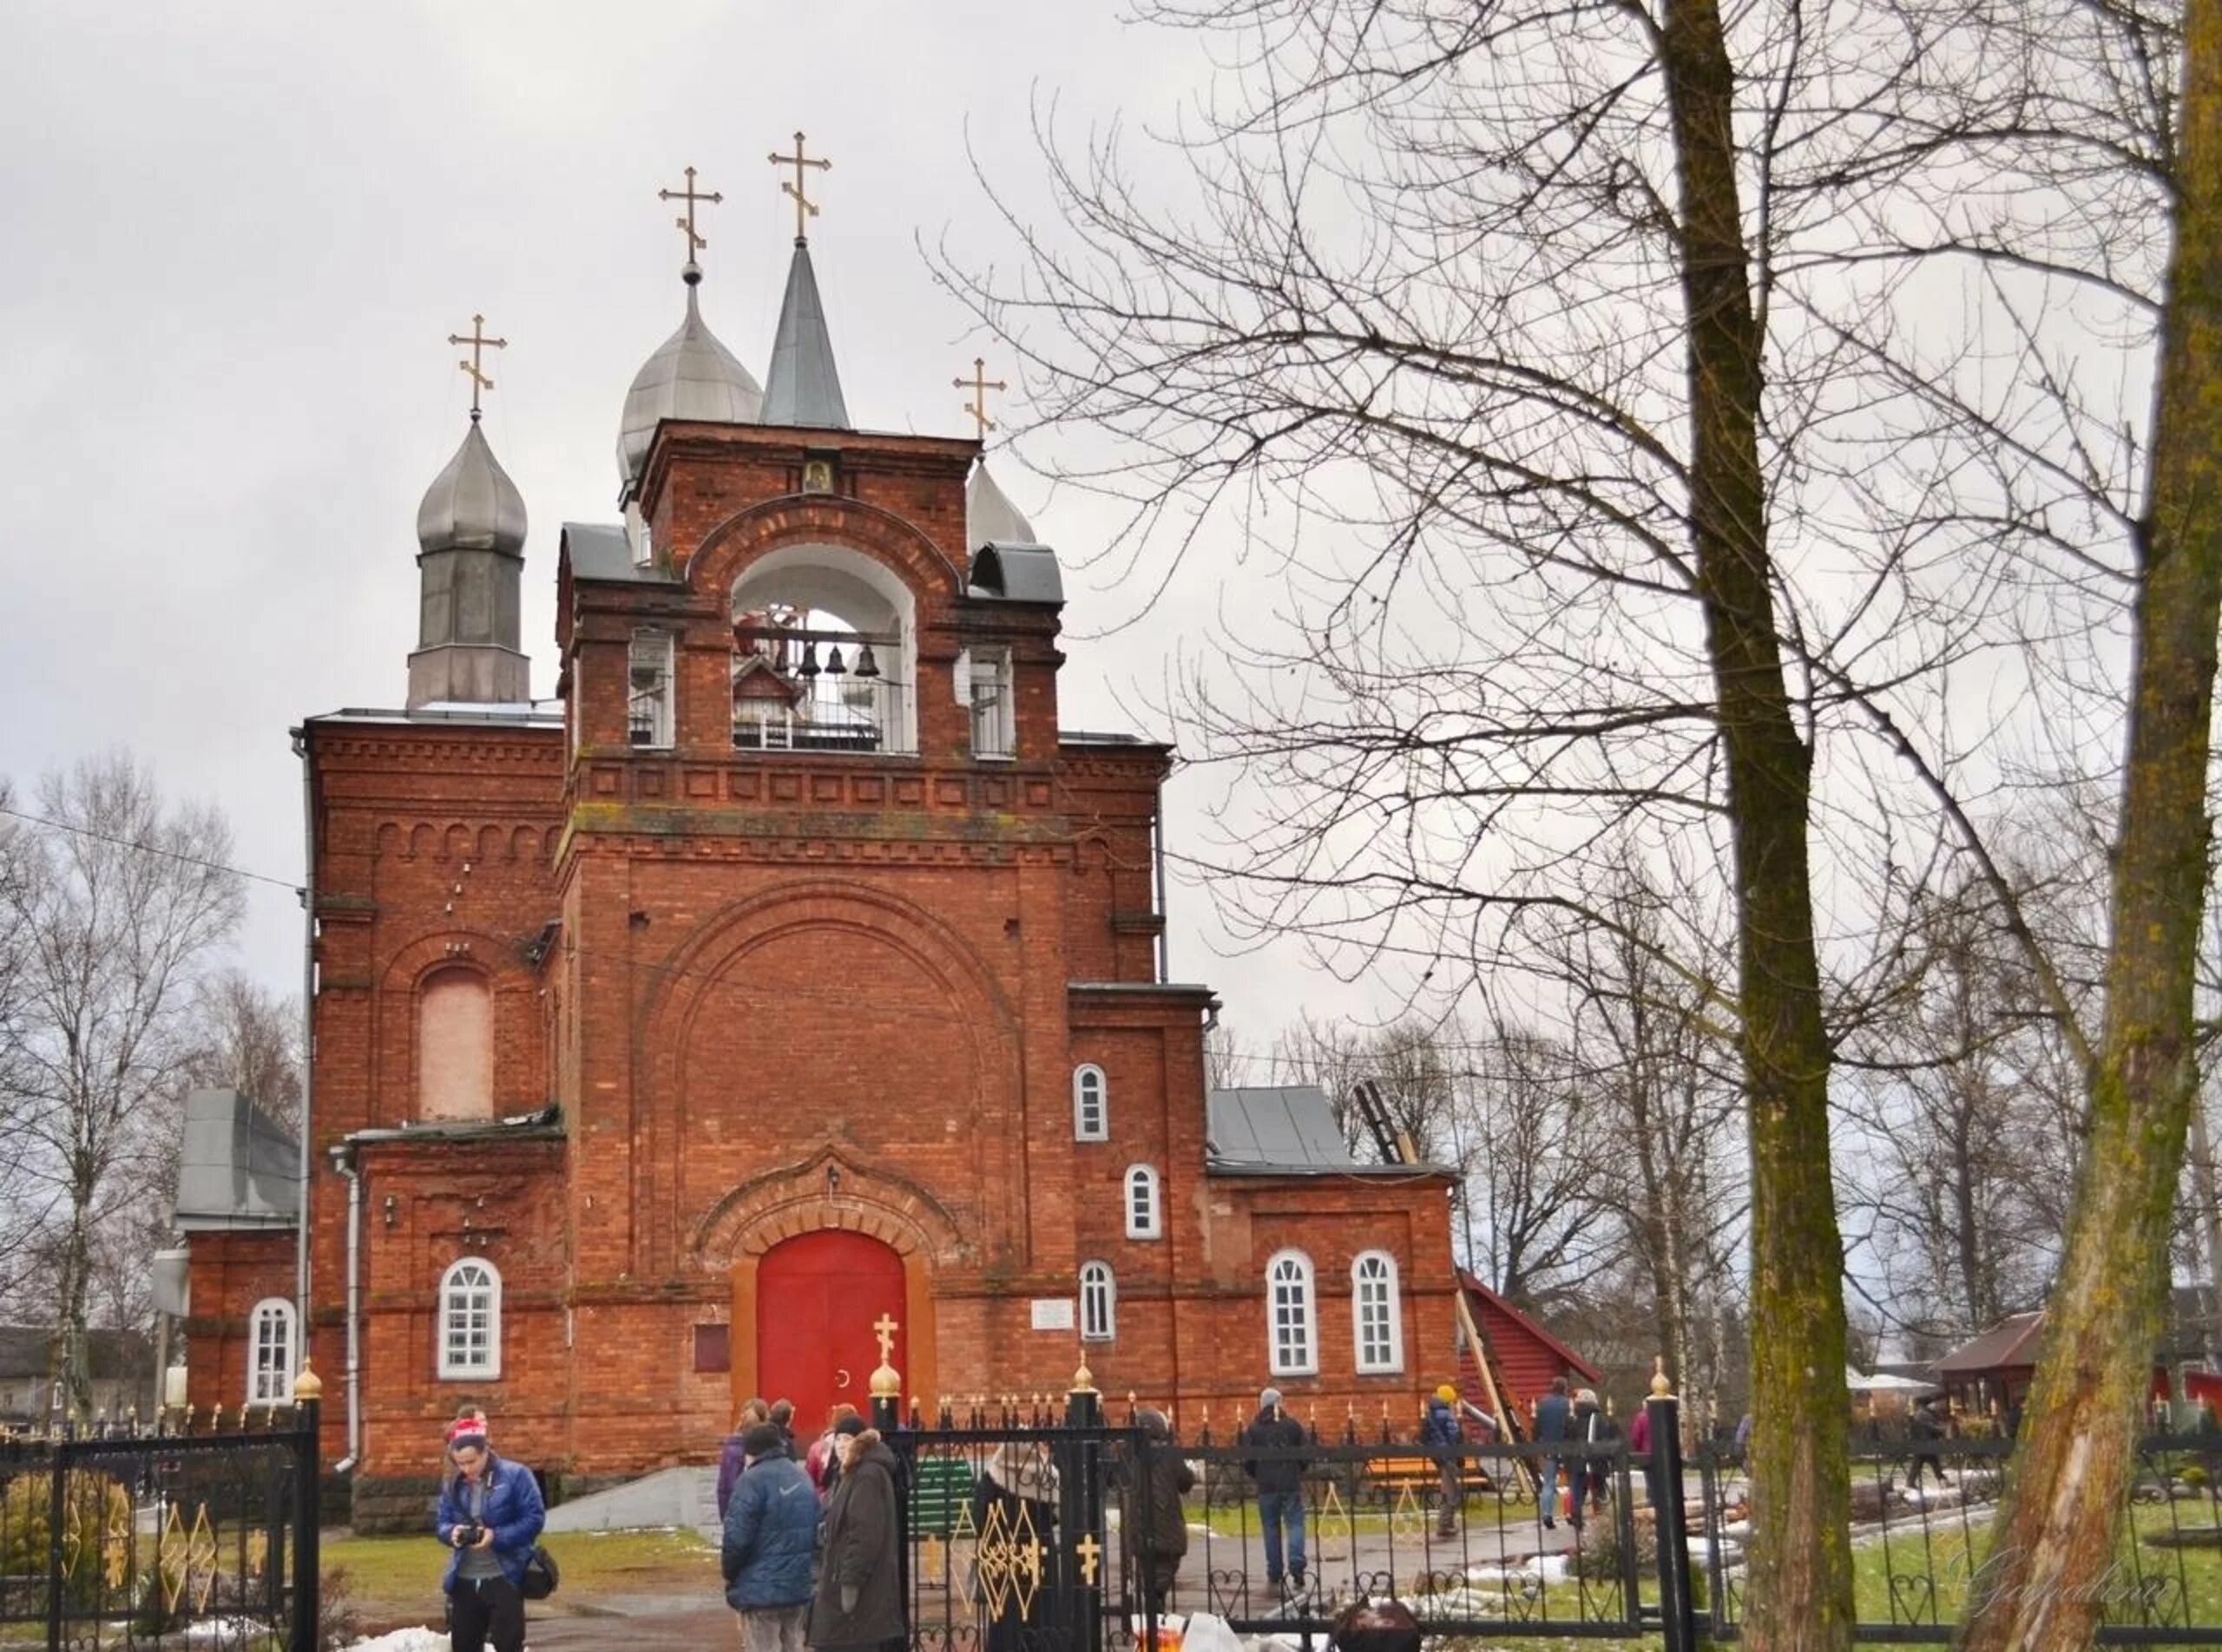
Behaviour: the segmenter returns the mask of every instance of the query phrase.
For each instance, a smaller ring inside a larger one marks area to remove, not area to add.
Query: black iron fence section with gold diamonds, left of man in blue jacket
[[[0,1643],[316,1652],[318,1403],[222,1423],[0,1439]]]

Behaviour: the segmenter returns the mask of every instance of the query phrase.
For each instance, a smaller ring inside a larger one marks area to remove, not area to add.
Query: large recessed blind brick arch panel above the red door
[[[858,970],[880,990],[858,993]],[[709,917],[651,984],[635,1044],[647,1266],[684,1266],[689,1232],[735,1186],[824,1148],[915,1161],[969,1232],[1024,1230],[1018,1021],[942,919],[873,884],[798,879]]]

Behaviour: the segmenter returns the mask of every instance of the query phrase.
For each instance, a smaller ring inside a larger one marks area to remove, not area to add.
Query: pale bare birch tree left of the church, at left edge
[[[102,1237],[173,1150],[151,1128],[193,1055],[193,995],[240,921],[231,837],[211,808],[164,808],[124,753],[40,784],[47,826],[4,890],[29,957],[0,1070],[24,1172],[51,1201],[53,1319],[71,1408],[89,1401],[84,1330]]]

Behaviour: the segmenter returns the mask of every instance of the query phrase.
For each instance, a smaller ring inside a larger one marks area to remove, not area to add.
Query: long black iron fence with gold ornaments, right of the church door
[[[1684,1454],[1651,1401],[1653,1452],[1595,1443],[1455,1450],[1307,1432],[1258,1448],[1064,1408],[973,1408],[882,1432],[904,1468],[911,1643],[924,1652],[1129,1652],[1169,1616],[1324,1643],[1360,1599],[1431,1636],[1642,1641],[1682,1652],[1742,1628],[1751,1512],[1724,1445]],[[1853,1445],[1855,1641],[1951,1639],[1980,1599],[2006,1441]],[[2222,1434],[2140,1450],[2109,1645],[2222,1645]]]

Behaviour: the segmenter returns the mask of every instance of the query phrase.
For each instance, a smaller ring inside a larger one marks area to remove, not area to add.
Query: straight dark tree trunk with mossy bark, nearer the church
[[[1715,0],[1666,0],[1660,64],[1680,171],[1691,524],[1735,839],[1751,1110],[1744,1643],[1758,1652],[1849,1648],[1851,1401],[1806,855],[1811,753],[1791,722],[1773,615],[1758,449],[1760,326],[1735,175],[1733,73]]]

